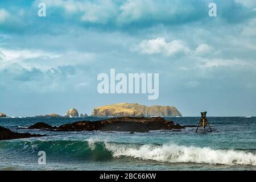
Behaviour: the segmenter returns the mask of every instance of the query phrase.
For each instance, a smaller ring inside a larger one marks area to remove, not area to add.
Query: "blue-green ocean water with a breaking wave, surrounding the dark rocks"
[[[255,170],[256,117],[208,117],[212,133],[177,131],[56,132],[19,129],[102,118],[0,118],[0,126],[47,137],[0,141],[2,170]],[[166,118],[197,125],[199,117]],[[38,152],[46,152],[46,165]]]

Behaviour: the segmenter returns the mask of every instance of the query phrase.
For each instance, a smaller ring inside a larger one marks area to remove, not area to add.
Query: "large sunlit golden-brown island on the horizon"
[[[139,104],[120,103],[100,106],[93,109],[92,116],[96,117],[173,117],[182,116],[174,106],[144,106]]]

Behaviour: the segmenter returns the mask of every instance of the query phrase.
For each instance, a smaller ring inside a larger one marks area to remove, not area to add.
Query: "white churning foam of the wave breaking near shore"
[[[129,156],[143,160],[170,163],[243,164],[256,166],[256,155],[245,151],[213,150],[208,147],[199,148],[177,145],[156,146],[152,144],[144,144],[138,147],[130,144],[105,143],[105,147],[117,158]]]

